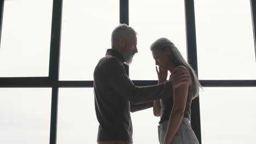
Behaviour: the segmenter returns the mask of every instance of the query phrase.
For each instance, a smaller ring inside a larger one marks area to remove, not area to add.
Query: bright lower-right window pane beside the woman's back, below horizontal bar
[[[256,142],[256,87],[203,88],[202,143]]]

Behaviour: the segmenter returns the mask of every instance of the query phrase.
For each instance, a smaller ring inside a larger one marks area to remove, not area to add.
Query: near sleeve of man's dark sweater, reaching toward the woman
[[[108,59],[106,67],[106,75],[110,86],[132,104],[142,104],[173,96],[171,82],[155,86],[135,86],[126,75],[123,64],[117,58]]]

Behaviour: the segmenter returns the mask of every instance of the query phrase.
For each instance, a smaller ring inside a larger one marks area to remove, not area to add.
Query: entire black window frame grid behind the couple
[[[185,26],[187,38],[188,62],[197,74],[197,51],[196,51],[196,29],[194,0],[185,1]],[[0,45],[2,33],[4,1],[0,2]],[[119,1],[119,21],[129,25],[129,0]],[[254,35],[254,49],[256,62],[256,0],[251,0],[252,25]],[[57,128],[57,105],[60,87],[93,87],[93,81],[59,81],[60,65],[60,40],[61,40],[62,0],[53,0],[53,15],[51,23],[51,43],[49,76],[46,77],[0,77],[0,87],[49,87],[52,88],[51,95],[51,121],[50,121],[50,144],[56,143]],[[125,65],[127,75],[129,66]],[[134,80],[137,86],[156,85],[156,80]],[[203,87],[256,87],[256,80],[200,80]],[[201,143],[200,105],[199,98],[193,101],[191,106],[191,123],[197,139]]]

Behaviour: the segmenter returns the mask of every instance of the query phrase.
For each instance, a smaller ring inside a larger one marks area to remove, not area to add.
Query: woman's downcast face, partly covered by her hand
[[[160,69],[166,70],[168,67],[170,67],[170,59],[167,52],[152,50],[152,55],[155,59],[155,65],[158,65]]]

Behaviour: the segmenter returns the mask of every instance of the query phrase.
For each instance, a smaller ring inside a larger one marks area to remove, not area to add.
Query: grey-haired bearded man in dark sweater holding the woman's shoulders
[[[148,109],[153,100],[171,97],[172,88],[188,83],[186,74],[160,85],[136,87],[125,73],[123,63],[130,64],[137,50],[133,28],[122,24],[112,32],[112,49],[101,58],[94,71],[95,110],[99,144],[132,143],[130,111]],[[185,72],[186,73],[186,72]],[[176,77],[176,76],[175,76]]]

